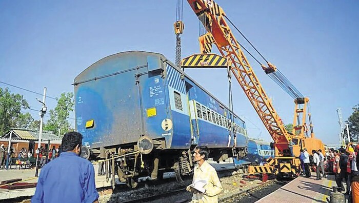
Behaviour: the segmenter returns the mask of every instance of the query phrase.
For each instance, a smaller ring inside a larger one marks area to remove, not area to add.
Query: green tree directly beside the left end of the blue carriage
[[[62,93],[57,99],[57,105],[49,111],[50,119],[45,125],[45,130],[52,131],[54,134],[63,136],[69,131],[71,125],[68,121],[70,112],[73,111],[73,93]]]

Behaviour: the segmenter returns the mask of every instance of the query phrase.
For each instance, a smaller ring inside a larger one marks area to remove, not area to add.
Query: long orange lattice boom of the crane
[[[197,17],[211,33],[214,44],[221,54],[229,58],[231,71],[240,83],[245,94],[249,98],[255,111],[260,116],[275,144],[280,148],[288,149],[288,134],[285,126],[276,113],[269,97],[264,91],[257,76],[249,65],[246,56],[243,54],[240,44],[235,39],[229,28],[223,9],[212,0],[187,0]],[[287,146],[287,147],[285,147]]]

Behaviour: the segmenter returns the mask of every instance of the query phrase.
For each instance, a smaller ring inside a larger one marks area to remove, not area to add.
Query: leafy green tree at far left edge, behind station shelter
[[[0,88],[0,135],[11,128],[29,126],[33,118],[29,113],[21,113],[21,108],[30,108],[23,95],[13,94],[8,88]]]

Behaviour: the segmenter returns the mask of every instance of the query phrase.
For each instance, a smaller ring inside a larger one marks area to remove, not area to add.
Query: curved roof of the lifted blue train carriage
[[[79,78],[81,78],[81,76],[83,74],[85,74],[88,71],[91,71],[92,69],[95,69],[96,67],[98,67],[99,65],[106,63],[108,60],[117,58],[119,56],[122,55],[158,55],[159,58],[161,58],[161,60],[167,64],[169,64],[170,66],[174,67],[174,69],[176,69],[178,72],[182,73],[183,75],[185,75],[185,77],[187,77],[189,80],[191,80],[191,82],[193,82],[195,85],[197,85],[198,87],[200,87],[202,90],[204,90],[208,95],[210,95],[211,97],[213,97],[218,103],[220,103],[223,107],[225,107],[226,109],[229,109],[225,104],[223,104],[219,99],[217,99],[215,96],[213,96],[210,92],[208,92],[204,87],[202,87],[200,84],[198,84],[194,79],[192,79],[188,74],[186,74],[184,71],[182,71],[181,69],[179,69],[176,65],[174,65],[172,62],[170,62],[170,60],[168,60],[163,54],[161,53],[155,53],[155,52],[147,52],[147,51],[125,51],[125,52],[119,52],[119,53],[115,53],[109,56],[106,56],[102,59],[97,60],[97,62],[93,63],[91,66],[89,66],[88,68],[86,68],[84,71],[82,71],[80,74],[78,74],[75,79],[74,79],[74,84],[80,82],[78,81]],[[89,79],[89,78],[87,78]],[[86,80],[86,79],[85,79]],[[234,113],[234,115],[243,121],[243,123],[245,123],[245,121],[239,117],[238,115],[236,115]]]

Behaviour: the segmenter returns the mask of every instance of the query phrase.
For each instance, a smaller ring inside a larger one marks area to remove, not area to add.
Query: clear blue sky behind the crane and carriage
[[[216,2],[256,48],[310,98],[316,136],[324,143],[337,143],[340,128],[336,109],[342,108],[346,120],[351,108],[359,103],[359,3]],[[0,1],[0,81],[39,93],[47,87],[47,94],[57,97],[64,91],[72,92],[74,77],[110,54],[144,50],[162,53],[174,62],[175,6],[174,0]],[[188,56],[199,48],[198,20],[187,1],[183,15],[182,55]],[[240,35],[236,36],[244,42]],[[292,123],[293,99],[249,59],[284,123]],[[228,104],[224,70],[187,73]],[[35,100],[41,96],[9,89],[24,94],[31,108],[41,107]],[[249,134],[270,140],[236,83],[233,92],[234,109],[245,116]],[[47,105],[54,108],[56,101],[47,99]],[[36,112],[29,112],[38,118]]]

